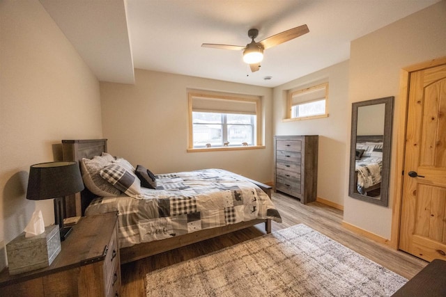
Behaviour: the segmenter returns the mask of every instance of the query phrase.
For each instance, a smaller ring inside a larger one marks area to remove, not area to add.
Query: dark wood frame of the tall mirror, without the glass
[[[383,97],[362,102],[353,102],[351,111],[351,141],[350,141],[350,172],[348,183],[348,195],[351,198],[371,202],[387,207],[389,201],[390,179],[390,154],[392,147],[392,121],[393,121],[394,97]],[[381,171],[380,198],[376,199],[355,192],[355,161],[356,161],[356,134],[357,134],[357,109],[362,106],[385,104],[384,134],[383,134],[383,170]]]

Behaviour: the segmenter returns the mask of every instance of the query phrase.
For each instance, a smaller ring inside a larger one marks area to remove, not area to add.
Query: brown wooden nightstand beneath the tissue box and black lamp
[[[121,266],[116,212],[85,216],[49,267],[0,273],[0,296],[119,296]]]

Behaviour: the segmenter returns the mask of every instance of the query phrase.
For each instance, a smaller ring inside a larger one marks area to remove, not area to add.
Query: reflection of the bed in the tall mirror
[[[383,171],[383,136],[356,136],[355,192],[380,195]]]

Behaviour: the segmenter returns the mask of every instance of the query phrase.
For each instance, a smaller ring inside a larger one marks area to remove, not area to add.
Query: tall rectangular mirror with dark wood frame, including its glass
[[[350,177],[351,198],[387,207],[394,97],[352,104]]]

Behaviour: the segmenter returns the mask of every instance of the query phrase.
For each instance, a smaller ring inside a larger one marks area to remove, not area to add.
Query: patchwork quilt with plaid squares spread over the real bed
[[[121,248],[253,220],[282,222],[268,195],[240,175],[220,169],[156,175],[157,188],[128,195],[99,197],[86,216],[118,211]]]

